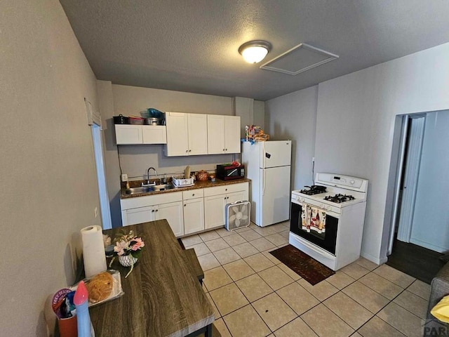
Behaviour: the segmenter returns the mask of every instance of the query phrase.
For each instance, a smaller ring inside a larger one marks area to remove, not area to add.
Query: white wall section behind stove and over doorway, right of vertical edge
[[[397,114],[449,107],[449,44],[319,84],[316,171],[370,180],[362,254],[386,260],[387,185]]]

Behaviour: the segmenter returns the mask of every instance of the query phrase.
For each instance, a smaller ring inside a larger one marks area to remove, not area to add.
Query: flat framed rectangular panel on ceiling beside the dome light
[[[298,44],[285,53],[264,63],[260,66],[260,69],[297,75],[335,60],[336,58],[338,58],[338,55],[323,51],[323,49],[310,46],[309,44]]]

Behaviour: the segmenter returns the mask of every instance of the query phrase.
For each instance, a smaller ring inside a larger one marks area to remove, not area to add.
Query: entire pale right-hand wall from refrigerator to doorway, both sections
[[[449,44],[442,44],[266,103],[270,136],[297,139],[295,188],[311,183],[312,155],[315,172],[369,180],[362,256],[375,263],[387,260],[394,121],[400,114],[449,109],[448,59]]]

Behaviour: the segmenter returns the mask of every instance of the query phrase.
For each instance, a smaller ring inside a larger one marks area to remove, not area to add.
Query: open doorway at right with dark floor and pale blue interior
[[[401,136],[393,149],[398,158],[387,264],[430,282],[449,250],[449,111],[403,115],[396,123]]]

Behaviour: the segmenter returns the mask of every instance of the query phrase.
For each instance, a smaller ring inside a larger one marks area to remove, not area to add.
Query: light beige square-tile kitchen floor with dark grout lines
[[[204,270],[221,336],[422,336],[430,286],[360,258],[311,286],[269,251],[289,223],[182,238]]]

